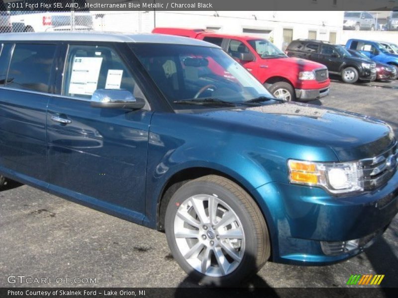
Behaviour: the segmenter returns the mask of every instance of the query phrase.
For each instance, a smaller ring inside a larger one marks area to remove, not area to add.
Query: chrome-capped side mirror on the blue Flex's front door
[[[90,105],[96,108],[134,109],[139,110],[145,106],[142,98],[124,89],[97,89],[91,96]]]

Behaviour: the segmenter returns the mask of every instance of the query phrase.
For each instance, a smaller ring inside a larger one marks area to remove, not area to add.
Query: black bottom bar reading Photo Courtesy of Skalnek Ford
[[[0,298],[398,297],[398,288],[0,288]]]

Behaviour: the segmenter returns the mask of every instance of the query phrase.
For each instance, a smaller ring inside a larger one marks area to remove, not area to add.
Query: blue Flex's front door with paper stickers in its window
[[[120,45],[70,44],[59,95],[47,113],[49,190],[140,221],[144,214],[149,124],[141,110],[90,105],[97,89],[126,89],[146,101]]]

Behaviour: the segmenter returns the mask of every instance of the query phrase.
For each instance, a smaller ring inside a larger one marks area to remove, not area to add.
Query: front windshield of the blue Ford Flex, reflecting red
[[[274,98],[219,48],[175,44],[130,44],[148,74],[176,109],[182,105],[235,106]]]

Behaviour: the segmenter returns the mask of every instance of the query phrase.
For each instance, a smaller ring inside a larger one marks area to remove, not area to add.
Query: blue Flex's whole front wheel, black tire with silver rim
[[[209,205],[215,206],[211,224]],[[232,229],[237,238],[225,235]],[[270,257],[268,228],[260,209],[240,186],[216,175],[192,180],[176,191],[167,207],[165,231],[174,259],[202,285],[236,286]]]

